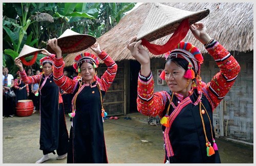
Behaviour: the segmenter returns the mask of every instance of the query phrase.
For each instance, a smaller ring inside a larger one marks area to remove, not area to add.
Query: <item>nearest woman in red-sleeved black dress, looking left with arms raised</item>
[[[203,85],[200,78],[203,57],[195,46],[181,41],[167,53],[160,75],[170,91],[154,93],[150,57],[135,36],[127,48],[141,64],[137,108],[144,115],[161,117],[165,163],[220,163],[212,112],[233,85],[240,66],[219,42],[210,38],[202,22],[189,29],[205,45],[220,72]]]

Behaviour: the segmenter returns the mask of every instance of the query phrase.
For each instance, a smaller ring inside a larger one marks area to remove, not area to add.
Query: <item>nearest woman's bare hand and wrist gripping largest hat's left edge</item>
[[[129,43],[127,44],[127,49],[130,50],[132,56],[140,63],[141,65],[141,75],[148,76],[150,75],[150,55],[142,47],[141,40],[135,41],[137,36],[134,36]]]

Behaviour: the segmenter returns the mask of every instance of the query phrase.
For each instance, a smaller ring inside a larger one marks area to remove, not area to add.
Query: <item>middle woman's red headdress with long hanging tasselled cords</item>
[[[78,76],[77,76],[77,79],[78,80],[81,80],[81,75],[80,75],[80,66],[83,62],[91,62],[93,63],[93,68],[97,68],[98,65],[99,65],[99,60],[98,58],[94,55],[94,54],[91,54],[91,53],[82,53],[82,54],[79,54],[75,57],[74,59],[74,62],[73,62],[73,67],[74,69],[76,70],[76,72],[78,73]],[[93,78],[93,81],[96,81],[97,80],[97,73],[96,75],[94,76]],[[80,87],[81,87],[81,83],[79,83],[79,89],[78,91],[76,92],[75,96],[74,96],[74,103],[73,103],[73,107],[72,107],[72,112],[69,113],[69,116],[70,117],[74,117],[75,116],[75,112],[76,112],[76,98],[78,96],[78,93],[80,92]],[[104,108],[103,108],[103,99],[102,99],[102,94],[101,94],[101,91],[100,91],[100,87],[99,87],[99,84],[97,84],[97,87],[98,87],[98,90],[99,90],[99,93],[100,93],[100,102],[101,102],[101,116],[102,116],[102,120],[103,120],[103,117],[107,116],[108,113],[105,112]]]

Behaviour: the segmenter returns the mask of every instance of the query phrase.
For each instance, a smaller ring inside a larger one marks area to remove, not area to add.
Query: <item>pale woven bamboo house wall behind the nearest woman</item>
[[[214,112],[217,136],[253,142],[253,53],[233,53],[241,66],[236,82]],[[152,59],[152,71],[156,82],[156,70],[163,67],[163,59]],[[209,55],[204,55],[201,66],[202,81],[209,82],[219,68]],[[157,85],[155,91],[169,90],[166,85]]]

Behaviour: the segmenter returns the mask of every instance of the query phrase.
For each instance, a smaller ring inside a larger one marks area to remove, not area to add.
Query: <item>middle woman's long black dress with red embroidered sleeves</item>
[[[115,78],[117,65],[104,51],[98,56],[108,69],[92,84],[83,84],[63,76],[62,58],[54,59],[56,84],[75,97],[79,89],[77,97],[72,100],[76,111],[70,130],[68,163],[108,163],[99,89],[103,98]]]

